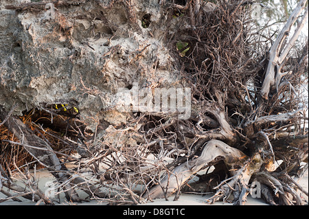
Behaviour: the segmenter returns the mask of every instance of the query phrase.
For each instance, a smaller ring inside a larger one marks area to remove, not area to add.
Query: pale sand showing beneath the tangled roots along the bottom
[[[54,177],[52,174],[49,174],[48,172],[39,172],[37,174],[38,178],[38,187],[41,188],[43,192],[46,192],[48,187],[48,183],[52,183],[54,180]],[[308,191],[308,170],[306,174],[304,175],[303,178],[301,178],[301,181],[299,181],[299,184]],[[80,196],[82,198],[86,198],[87,194],[84,192],[80,193]],[[169,201],[166,201],[165,199],[156,199],[154,202],[149,202],[143,205],[208,205],[205,200],[207,198],[211,197],[211,194],[207,194],[205,196],[201,196],[199,194],[181,194],[179,200],[173,201],[173,196],[169,198]],[[1,198],[6,198],[5,195],[0,193],[0,201]],[[308,197],[304,195],[304,198],[308,201]],[[20,198],[23,200],[23,202],[15,202],[13,200],[6,200],[3,203],[0,203],[0,205],[35,205],[36,203],[32,202],[31,200],[27,200],[24,198]],[[71,203],[68,203],[65,200],[65,197],[63,194],[60,194],[60,200],[61,203],[57,205],[70,205]],[[78,205],[106,205],[106,202],[100,202],[98,200],[91,200],[90,202],[83,202],[83,203],[78,203]],[[74,204],[75,205],[75,204]],[[213,205],[232,205],[231,203],[223,203],[223,202],[216,202]],[[252,196],[247,197],[247,203],[245,205],[267,205],[262,198],[253,198]],[[209,205],[208,205],[209,206]]]

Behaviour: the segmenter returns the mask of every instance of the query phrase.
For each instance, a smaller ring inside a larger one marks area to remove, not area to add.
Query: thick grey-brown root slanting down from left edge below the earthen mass
[[[3,119],[4,113],[0,113],[0,118]],[[71,186],[70,181],[74,182],[75,185],[83,184],[84,180],[78,176],[72,176],[68,171],[65,165],[63,165],[60,160],[58,159],[56,153],[52,149],[52,147],[49,145],[48,141],[45,141],[44,139],[41,139],[37,135],[34,135],[34,132],[27,127],[26,124],[23,124],[21,120],[17,117],[6,117],[5,118],[6,125],[8,126],[9,130],[14,133],[14,135],[20,139],[22,143],[17,143],[29,154],[38,161],[43,167],[47,168],[52,174],[58,179],[59,183],[61,183],[64,187],[65,196],[67,200],[73,201],[73,202],[80,202],[81,199],[78,197],[78,194],[76,192],[76,189]],[[14,142],[11,142],[14,144]],[[65,155],[65,154],[64,154]],[[16,170],[19,170],[19,168],[15,165]],[[22,172],[19,171],[21,174]],[[30,180],[30,176],[27,176],[27,180]],[[12,187],[10,183],[3,183],[5,187],[8,187],[10,189],[16,190],[17,192],[20,192],[18,187]],[[95,194],[95,196],[98,196],[100,198],[104,198],[106,194],[102,194],[100,191],[97,191],[93,185],[82,185],[84,186],[84,191],[89,194]],[[32,188],[33,186],[30,186]],[[15,189],[14,189],[15,188]],[[52,201],[48,198],[45,198],[43,192],[41,192],[38,187],[34,188],[34,191],[32,193],[38,195],[46,204],[52,204]],[[27,197],[27,196],[25,196]]]

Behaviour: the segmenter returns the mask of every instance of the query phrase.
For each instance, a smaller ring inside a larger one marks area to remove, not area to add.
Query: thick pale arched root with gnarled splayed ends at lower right
[[[302,138],[302,141],[308,143],[308,139]],[[306,151],[308,152],[308,149]],[[304,159],[308,157],[308,155],[304,155],[305,158],[302,158],[301,161],[304,161]],[[249,181],[252,180],[251,177],[253,176],[256,181],[262,183],[262,187],[260,187],[262,197],[271,205],[275,205],[275,202],[273,201],[273,196],[268,191],[268,187],[266,187],[266,185],[271,186],[274,190],[279,189],[279,191],[281,191],[279,192],[279,198],[285,205],[291,204],[286,192],[292,193],[297,200],[296,204],[301,205],[301,198],[292,187],[289,187],[282,181],[278,181],[277,178],[271,176],[271,173],[268,171],[259,172],[262,165],[267,163],[264,159],[262,159],[259,153],[249,158],[240,150],[232,148],[226,143],[218,140],[208,141],[205,144],[200,157],[185,162],[174,168],[172,172],[168,172],[168,174],[166,174],[161,181],[159,181],[158,185],[152,187],[152,189],[144,194],[143,197],[151,200],[154,198],[168,198],[174,193],[176,193],[177,196],[177,193],[181,190],[183,185],[185,185],[185,183],[187,183],[187,181],[194,176],[196,172],[218,157],[222,157],[222,160],[227,166],[227,170],[230,170],[231,177],[225,179],[219,185],[214,187],[217,192],[214,196],[207,200],[209,203],[214,203],[217,200],[225,200],[229,198],[231,192],[233,192],[234,204],[244,205],[246,202],[246,197],[250,192],[248,187]],[[299,156],[299,158],[301,158],[301,156]],[[271,165],[273,165],[273,162],[271,162]],[[266,165],[266,168],[271,170],[273,167]],[[293,179],[290,178],[290,181],[293,181]],[[293,183],[297,185],[296,182]],[[306,192],[299,185],[297,185],[297,187],[299,187],[304,194],[308,194],[308,192]],[[176,196],[175,198],[177,198]]]

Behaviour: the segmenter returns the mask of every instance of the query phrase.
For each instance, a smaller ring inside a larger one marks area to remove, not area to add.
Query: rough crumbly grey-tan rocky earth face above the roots
[[[157,0],[1,0],[0,106],[68,104],[92,130],[125,122],[119,92],[180,81],[162,10]]]

